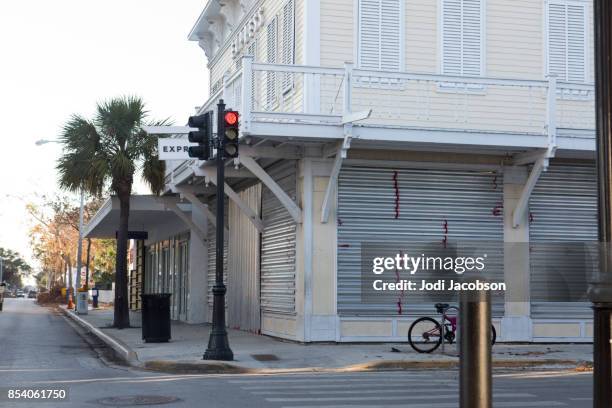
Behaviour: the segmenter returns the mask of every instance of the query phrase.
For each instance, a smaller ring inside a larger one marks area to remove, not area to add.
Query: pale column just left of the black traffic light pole
[[[192,206],[191,220],[208,236],[206,214]],[[187,294],[187,323],[205,323],[208,313],[208,248],[198,234],[191,230],[189,240],[189,292]]]

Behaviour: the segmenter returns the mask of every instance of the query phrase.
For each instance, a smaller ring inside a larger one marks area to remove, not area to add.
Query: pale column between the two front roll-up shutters
[[[529,210],[513,227],[513,212],[527,182],[527,168],[504,168],[504,281],[505,313],[501,322],[503,341],[531,341]]]

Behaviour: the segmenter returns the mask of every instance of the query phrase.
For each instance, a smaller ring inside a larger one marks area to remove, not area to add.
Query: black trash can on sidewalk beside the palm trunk
[[[170,340],[170,293],[142,295],[142,339],[145,343]]]

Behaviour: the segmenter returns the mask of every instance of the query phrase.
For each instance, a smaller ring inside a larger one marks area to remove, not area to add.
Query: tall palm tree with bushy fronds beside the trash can
[[[148,122],[140,98],[120,97],[99,103],[92,120],[73,115],[64,125],[58,160],[62,188],[101,196],[110,189],[119,198],[113,326],[130,326],[128,310],[128,220],[130,195],[137,170],[155,194],[164,186],[164,162],[157,156],[157,138],[147,135],[143,125],[166,125],[167,120]]]

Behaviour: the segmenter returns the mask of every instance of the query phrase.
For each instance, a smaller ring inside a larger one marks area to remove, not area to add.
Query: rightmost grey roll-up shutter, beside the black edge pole
[[[531,316],[591,318],[585,265],[592,265],[591,244],[597,241],[595,166],[551,163],[531,194],[529,211]],[[581,243],[588,244],[585,256]]]

